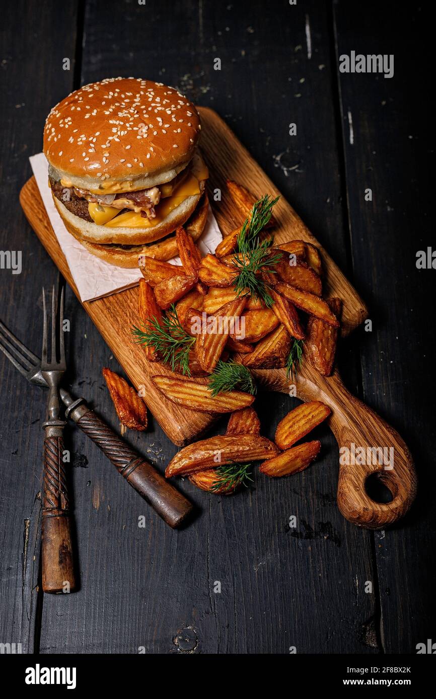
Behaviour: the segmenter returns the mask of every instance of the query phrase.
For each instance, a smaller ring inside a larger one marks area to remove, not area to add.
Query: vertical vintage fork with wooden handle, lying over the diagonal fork
[[[42,517],[42,577],[43,591],[70,592],[76,586],[73,570],[69,498],[66,486],[64,440],[66,421],[61,419],[59,384],[66,370],[64,348],[64,289],[59,303],[59,317],[52,289],[51,352],[48,359],[48,318],[43,289],[43,351],[41,376],[48,384],[47,419],[43,424],[44,476]],[[58,322],[58,332],[57,332]],[[57,342],[58,340],[58,342]],[[58,347],[57,347],[58,345]]]

